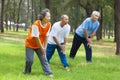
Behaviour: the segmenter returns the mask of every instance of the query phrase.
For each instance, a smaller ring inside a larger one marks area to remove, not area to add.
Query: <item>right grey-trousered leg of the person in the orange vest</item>
[[[41,62],[42,69],[46,75],[51,75],[52,72],[50,70],[50,66],[48,64],[47,58],[42,55],[42,52],[40,49],[35,49],[35,52],[37,53],[37,56]]]

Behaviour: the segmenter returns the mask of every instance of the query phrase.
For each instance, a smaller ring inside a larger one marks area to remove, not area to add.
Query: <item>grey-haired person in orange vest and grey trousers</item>
[[[46,58],[46,44],[51,28],[51,23],[49,22],[50,11],[49,9],[44,9],[40,14],[40,20],[36,20],[32,24],[26,38],[26,65],[24,74],[29,74],[31,72],[35,51],[41,62],[44,73],[50,77],[53,77]]]

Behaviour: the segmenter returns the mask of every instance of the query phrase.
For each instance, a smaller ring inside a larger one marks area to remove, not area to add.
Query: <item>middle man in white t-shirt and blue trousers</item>
[[[61,16],[61,21],[53,24],[46,49],[48,62],[50,62],[55,49],[57,49],[60,60],[67,71],[69,71],[69,65],[66,59],[65,46],[70,32],[70,25],[68,24],[68,21],[69,17],[64,14]]]

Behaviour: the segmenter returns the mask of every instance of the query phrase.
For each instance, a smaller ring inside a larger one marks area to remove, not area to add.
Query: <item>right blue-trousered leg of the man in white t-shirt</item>
[[[60,60],[63,64],[63,66],[68,67],[69,65],[68,65],[68,62],[67,62],[66,54],[61,51],[59,46],[57,46],[57,51],[58,51],[58,54],[59,54],[59,57],[60,57]]]

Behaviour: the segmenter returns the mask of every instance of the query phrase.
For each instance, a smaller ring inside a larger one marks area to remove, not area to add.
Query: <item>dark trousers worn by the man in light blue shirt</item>
[[[89,47],[87,44],[87,40],[85,38],[80,37],[75,33],[74,38],[73,38],[73,44],[72,48],[70,50],[70,58],[74,58],[79,47],[81,44],[84,44],[85,47],[85,52],[86,52],[86,61],[92,61],[92,47]]]

